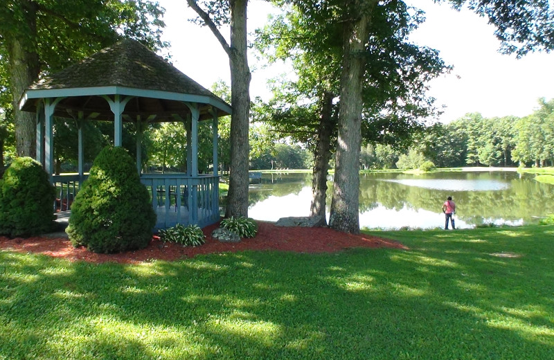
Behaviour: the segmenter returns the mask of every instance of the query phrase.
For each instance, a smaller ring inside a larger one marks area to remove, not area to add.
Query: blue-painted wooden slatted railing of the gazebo
[[[80,190],[79,174],[55,175],[55,209],[71,210],[71,203]],[[187,174],[141,174],[141,183],[150,192],[152,208],[157,215],[156,228],[175,224],[198,224],[200,227],[215,224],[220,219],[219,177]]]

